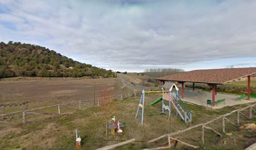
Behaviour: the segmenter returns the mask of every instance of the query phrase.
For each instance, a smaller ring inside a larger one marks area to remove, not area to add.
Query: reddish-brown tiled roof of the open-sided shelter
[[[203,69],[157,78],[160,81],[225,84],[238,78],[256,74],[256,68]]]

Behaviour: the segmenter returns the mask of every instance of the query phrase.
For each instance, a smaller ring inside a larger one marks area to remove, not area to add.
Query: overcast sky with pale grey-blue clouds
[[[6,1],[0,41],[115,71],[256,67],[256,1]]]

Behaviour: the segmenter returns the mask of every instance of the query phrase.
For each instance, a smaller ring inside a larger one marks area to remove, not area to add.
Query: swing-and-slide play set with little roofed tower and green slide
[[[174,89],[176,89],[176,93],[174,92],[172,93],[173,87]],[[174,110],[176,111],[176,116],[179,115],[185,123],[190,123],[192,121],[192,112],[188,108],[188,106],[186,106],[186,104],[179,98],[178,91],[179,91],[179,88],[174,83],[165,83],[162,87],[162,91],[144,91],[143,90],[141,94],[141,99],[139,100],[139,106],[137,108],[135,119],[137,119],[137,115],[139,114],[139,109],[141,108],[142,109],[141,124],[143,124],[145,93],[163,93],[161,98],[151,103],[151,106],[162,101],[163,114],[165,110],[168,110],[169,117],[171,117],[171,108],[174,108]],[[168,101],[169,104],[165,105],[164,101]],[[188,116],[188,113],[189,113],[189,116]]]

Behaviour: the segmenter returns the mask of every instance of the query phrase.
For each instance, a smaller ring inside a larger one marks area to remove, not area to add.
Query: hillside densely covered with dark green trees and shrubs
[[[40,77],[114,77],[111,70],[73,61],[46,47],[21,42],[0,42],[0,78]]]

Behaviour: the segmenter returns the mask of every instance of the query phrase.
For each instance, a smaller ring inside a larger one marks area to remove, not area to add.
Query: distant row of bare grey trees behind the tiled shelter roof
[[[184,70],[175,69],[175,68],[150,68],[150,69],[145,69],[144,74],[147,74],[152,78],[159,78],[162,76],[169,76],[171,74],[176,74],[180,72],[184,72]]]

